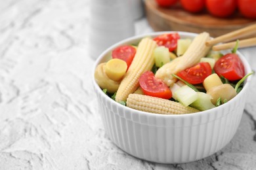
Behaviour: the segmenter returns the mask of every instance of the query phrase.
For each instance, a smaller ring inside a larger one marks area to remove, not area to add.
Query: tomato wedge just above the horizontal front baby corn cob
[[[146,95],[170,99],[173,95],[169,87],[164,82],[156,78],[152,71],[146,71],[139,78],[139,84]]]

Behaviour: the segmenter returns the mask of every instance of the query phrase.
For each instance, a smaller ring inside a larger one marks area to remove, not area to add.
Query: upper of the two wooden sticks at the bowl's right
[[[256,33],[256,24],[252,24],[242,29],[221,35],[215,39],[211,39],[210,41],[205,42],[205,44],[206,46],[212,46],[214,44],[218,44],[219,42],[232,41],[241,37],[252,35],[253,33]]]

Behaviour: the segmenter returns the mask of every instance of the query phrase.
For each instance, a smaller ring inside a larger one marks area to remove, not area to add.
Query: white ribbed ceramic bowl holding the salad
[[[114,44],[96,60],[94,71],[96,65],[109,59],[110,52],[117,46],[136,43],[145,36],[154,37],[162,33],[167,32],[139,35]],[[182,38],[196,36],[194,33],[179,34]],[[251,72],[245,58],[238,54],[244,63],[245,73]],[[250,80],[249,76],[243,90],[224,105],[181,115],[153,114],[130,109],[104,94],[94,78],[93,84],[106,133],[121,150],[143,160],[185,163],[211,156],[234,137],[245,107]]]

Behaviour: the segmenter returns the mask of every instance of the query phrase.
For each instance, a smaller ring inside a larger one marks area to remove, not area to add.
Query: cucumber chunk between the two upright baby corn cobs
[[[165,46],[156,47],[153,56],[157,67],[161,67],[170,61],[169,49]]]

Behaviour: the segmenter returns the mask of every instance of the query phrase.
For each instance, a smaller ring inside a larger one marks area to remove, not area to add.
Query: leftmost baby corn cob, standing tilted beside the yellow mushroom
[[[153,51],[157,44],[149,38],[140,41],[133,62],[125,74],[116,92],[116,101],[126,101],[130,93],[139,87],[139,77],[145,71],[150,71],[154,65]]]

